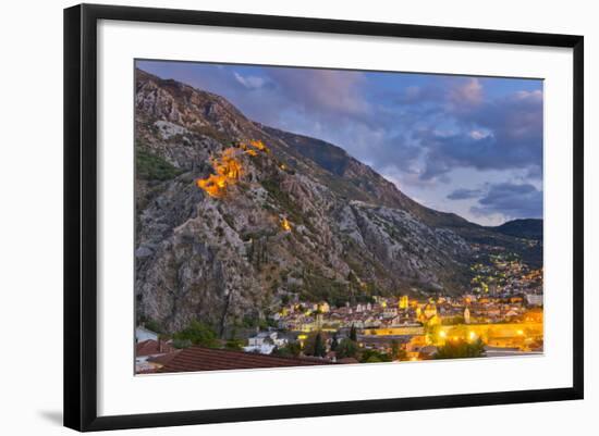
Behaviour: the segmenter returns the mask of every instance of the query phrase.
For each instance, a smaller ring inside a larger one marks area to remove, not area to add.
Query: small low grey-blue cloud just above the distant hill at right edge
[[[542,217],[542,190],[530,184],[494,184],[470,211],[475,215],[500,213],[506,219]]]

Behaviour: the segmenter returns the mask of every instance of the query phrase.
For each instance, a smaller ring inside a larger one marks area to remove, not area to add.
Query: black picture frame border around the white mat
[[[573,50],[574,301],[573,385],[567,388],[98,416],[96,66],[99,20],[476,41]],[[459,408],[583,398],[584,38],[487,30],[81,4],[64,10],[64,425],[103,431],[289,418]]]

